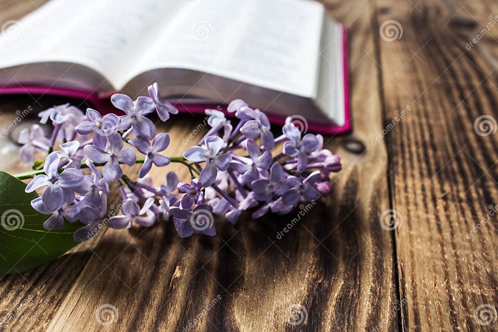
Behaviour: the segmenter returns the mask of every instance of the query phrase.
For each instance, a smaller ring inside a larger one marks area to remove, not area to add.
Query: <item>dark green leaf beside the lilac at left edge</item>
[[[38,197],[26,193],[26,184],[0,172],[0,275],[30,270],[56,259],[78,244],[73,233],[83,225],[69,223],[56,231],[46,231],[49,216],[31,206]]]

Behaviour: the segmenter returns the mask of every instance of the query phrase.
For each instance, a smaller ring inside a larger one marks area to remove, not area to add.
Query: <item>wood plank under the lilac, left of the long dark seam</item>
[[[344,162],[335,192],[309,209],[288,233],[281,233],[282,239],[279,232],[296,213],[245,220],[235,227],[225,224],[214,238],[180,240],[171,223],[164,221],[146,230],[108,230],[91,248],[78,247],[81,258],[71,258],[60,269],[59,260],[4,277],[0,312],[17,310],[7,328],[398,327],[394,244],[392,234],[379,224],[379,215],[390,204],[387,151],[383,139],[368,144],[383,125],[377,9],[366,0],[327,5],[349,28],[353,133],[367,145],[358,155],[344,148],[346,138],[326,138],[327,147]],[[172,140],[180,142],[199,120],[189,116],[170,120]],[[177,155],[185,147],[171,144],[167,151]],[[161,180],[165,173],[152,174]],[[26,286],[25,278],[33,285]],[[20,305],[18,292],[23,289],[22,298],[33,296],[36,302]],[[102,305],[115,307],[119,315],[115,322],[99,325],[95,314]],[[292,305],[307,315],[295,327],[286,315]]]

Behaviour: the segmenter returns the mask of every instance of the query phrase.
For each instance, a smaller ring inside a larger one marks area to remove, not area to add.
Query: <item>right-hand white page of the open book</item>
[[[148,70],[183,68],[315,97],[323,19],[322,5],[309,0],[192,0],[114,80],[123,86]]]

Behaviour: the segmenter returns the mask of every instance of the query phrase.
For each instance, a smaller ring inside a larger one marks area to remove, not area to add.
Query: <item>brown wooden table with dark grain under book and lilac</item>
[[[2,0],[0,24],[39,5]],[[53,263],[3,277],[0,326],[498,329],[498,3],[335,0],[327,8],[349,30],[354,126],[326,138],[344,164],[330,197],[282,239],[295,214],[225,224],[214,238],[181,240],[171,222],[105,229]],[[389,25],[399,36],[380,32]],[[2,98],[2,123],[27,104]],[[198,120],[165,129],[184,137]],[[395,227],[383,223],[393,214]],[[112,324],[97,323],[102,305],[116,308]],[[291,309],[301,316],[289,317]],[[479,315],[486,309],[488,320]]]

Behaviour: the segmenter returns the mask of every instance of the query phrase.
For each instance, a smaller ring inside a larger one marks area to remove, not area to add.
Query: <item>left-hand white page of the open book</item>
[[[175,1],[52,0],[0,35],[0,67],[64,62],[103,76],[126,70],[142,56],[131,46],[152,38],[151,27],[168,22]],[[112,74],[110,75],[112,76]],[[83,78],[82,78],[83,79]],[[112,81],[112,79],[111,79]]]

